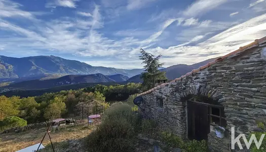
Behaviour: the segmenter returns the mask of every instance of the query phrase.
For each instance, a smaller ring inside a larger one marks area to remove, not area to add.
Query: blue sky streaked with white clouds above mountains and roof
[[[0,0],[0,55],[141,68],[225,55],[266,36],[266,0]]]

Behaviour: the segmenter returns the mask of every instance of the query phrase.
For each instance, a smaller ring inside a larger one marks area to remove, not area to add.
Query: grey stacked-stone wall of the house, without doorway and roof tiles
[[[231,127],[235,127],[236,136],[257,131],[256,120],[263,118],[266,112],[265,46],[248,49],[142,95],[140,112],[143,117],[155,119],[162,129],[186,138],[186,99],[189,95],[200,94],[224,106],[229,132]],[[157,98],[163,99],[163,109],[158,108]],[[208,135],[211,150],[230,151],[230,138],[229,135],[218,139],[211,130]]]

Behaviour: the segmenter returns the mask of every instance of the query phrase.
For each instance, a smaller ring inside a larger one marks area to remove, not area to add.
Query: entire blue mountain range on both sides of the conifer
[[[213,60],[208,59],[192,65],[177,64],[160,70],[166,71],[168,80],[173,80]],[[143,69],[91,66],[56,56],[0,56],[0,87],[30,90],[81,83],[141,83],[142,71]]]

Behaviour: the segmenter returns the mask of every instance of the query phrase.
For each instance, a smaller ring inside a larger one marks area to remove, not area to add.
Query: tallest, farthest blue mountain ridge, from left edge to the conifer
[[[0,78],[23,78],[44,74],[123,74],[133,77],[142,69],[117,69],[111,67],[91,66],[75,60],[56,56],[31,56],[14,58],[0,56]]]

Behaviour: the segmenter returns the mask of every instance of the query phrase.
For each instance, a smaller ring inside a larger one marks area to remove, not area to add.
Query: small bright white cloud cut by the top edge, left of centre
[[[52,3],[47,3],[47,8],[56,8],[56,7],[66,7],[66,8],[76,8],[77,5],[75,2],[78,0],[53,0]]]

